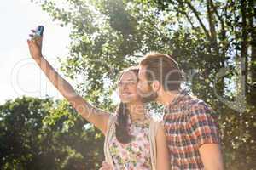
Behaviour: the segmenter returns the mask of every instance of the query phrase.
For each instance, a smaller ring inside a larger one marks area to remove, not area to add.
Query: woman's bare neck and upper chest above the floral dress
[[[140,104],[127,104],[129,114],[131,116],[131,121],[137,121],[139,119],[143,119],[146,115],[146,110],[142,103]]]

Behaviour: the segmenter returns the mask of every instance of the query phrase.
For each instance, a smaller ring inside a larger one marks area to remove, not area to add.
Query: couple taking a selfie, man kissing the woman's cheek
[[[31,35],[32,36],[32,35]],[[212,110],[180,90],[182,75],[166,54],[148,54],[139,67],[121,72],[121,102],[110,114],[90,105],[42,55],[43,37],[27,40],[32,59],[73,108],[105,135],[102,170],[223,169],[218,126]],[[165,105],[161,122],[144,104]]]

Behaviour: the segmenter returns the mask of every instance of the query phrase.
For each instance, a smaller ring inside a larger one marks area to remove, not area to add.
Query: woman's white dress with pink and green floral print
[[[146,123],[131,123],[131,118],[129,117],[128,130],[134,137],[131,143],[119,143],[115,135],[109,142],[109,150],[113,157],[115,170],[151,169],[149,119]]]

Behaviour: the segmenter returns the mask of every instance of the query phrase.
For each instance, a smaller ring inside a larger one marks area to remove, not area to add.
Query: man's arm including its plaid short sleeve
[[[191,108],[189,125],[196,141],[201,161],[206,170],[222,170],[223,159],[220,149],[220,135],[216,116],[207,105],[195,104]]]

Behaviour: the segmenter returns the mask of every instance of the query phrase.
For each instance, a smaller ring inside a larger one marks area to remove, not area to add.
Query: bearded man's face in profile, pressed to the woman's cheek
[[[157,92],[151,87],[152,82],[149,82],[146,77],[146,66],[139,67],[137,92],[142,97],[143,102],[154,101],[157,98]]]

